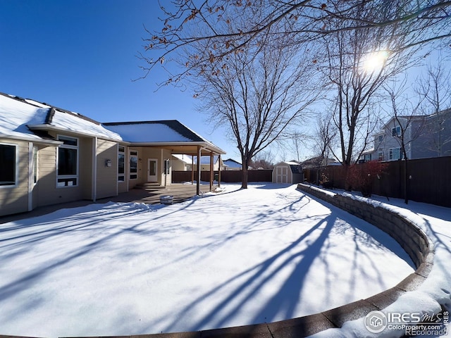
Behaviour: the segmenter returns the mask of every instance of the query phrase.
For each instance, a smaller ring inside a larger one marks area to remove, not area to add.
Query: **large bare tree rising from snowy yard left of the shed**
[[[203,46],[200,45],[199,49]],[[192,77],[202,109],[218,126],[228,126],[242,159],[242,188],[254,156],[288,131],[316,99],[309,51],[284,39],[271,48],[261,44],[228,56],[221,70],[214,63],[196,68]]]

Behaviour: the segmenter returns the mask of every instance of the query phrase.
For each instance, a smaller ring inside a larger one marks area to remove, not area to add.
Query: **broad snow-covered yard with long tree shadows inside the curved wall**
[[[225,184],[183,204],[92,204],[0,225],[0,334],[271,322],[366,298],[413,272],[387,234],[295,188]],[[411,207],[449,257],[450,209]],[[449,287],[447,262],[436,262],[428,290]],[[417,296],[429,305],[433,295]],[[349,337],[359,330],[350,323],[330,334]]]

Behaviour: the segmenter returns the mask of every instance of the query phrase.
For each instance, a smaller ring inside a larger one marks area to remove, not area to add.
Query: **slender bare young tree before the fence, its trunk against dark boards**
[[[385,91],[390,97],[391,109],[390,116],[393,127],[386,129],[384,137],[395,137],[397,144],[400,146],[400,154],[398,158],[403,160],[404,166],[404,203],[409,203],[409,151],[412,148],[412,142],[421,137],[424,133],[426,125],[426,115],[421,113],[421,103],[423,97],[412,99],[405,93],[407,77],[397,84],[395,81],[384,86]],[[415,102],[413,104],[413,102]],[[394,156],[396,157],[396,156]]]

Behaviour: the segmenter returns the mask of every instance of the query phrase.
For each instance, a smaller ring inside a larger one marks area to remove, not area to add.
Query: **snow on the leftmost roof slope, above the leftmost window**
[[[14,96],[0,95],[0,137],[17,137],[19,139],[35,139],[41,137],[28,129],[27,125],[40,124],[46,119],[48,108],[39,108]]]

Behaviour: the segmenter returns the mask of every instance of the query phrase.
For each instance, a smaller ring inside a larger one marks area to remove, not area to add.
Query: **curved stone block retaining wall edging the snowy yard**
[[[366,204],[351,197],[328,194],[307,184],[299,184],[298,189],[327,201],[379,229],[390,234],[409,254],[416,265],[416,271],[404,278],[395,287],[367,299],[333,308],[328,311],[300,318],[274,323],[228,327],[224,329],[167,334],[142,334],[130,338],[301,338],[341,327],[348,320],[364,317],[367,313],[382,310],[397,300],[405,292],[413,291],[426,280],[433,265],[433,243],[426,234],[409,220],[385,208]],[[0,336],[1,337],[1,336]]]

